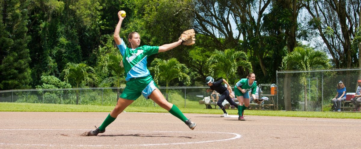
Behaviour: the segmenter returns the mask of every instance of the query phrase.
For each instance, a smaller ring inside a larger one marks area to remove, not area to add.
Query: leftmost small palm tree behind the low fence
[[[90,82],[96,81],[97,77],[94,74],[94,69],[87,64],[80,63],[68,63],[63,70],[64,80],[65,82],[69,82],[69,79],[74,80],[75,84],[77,84],[77,88],[82,81]],[[79,104],[79,90],[77,90],[77,105]]]

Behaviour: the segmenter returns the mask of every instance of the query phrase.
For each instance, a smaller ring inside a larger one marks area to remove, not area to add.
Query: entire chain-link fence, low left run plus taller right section
[[[277,82],[258,85],[259,97],[265,101],[259,110],[287,111],[334,111],[332,98],[336,96],[336,86],[343,81],[347,93],[342,102],[342,111],[353,111],[355,105],[350,102],[356,92],[357,80],[361,69],[338,69],[319,71],[280,71]],[[79,88],[79,89],[30,89],[0,91],[0,102],[53,103],[115,106],[121,88]],[[182,108],[206,108],[204,97],[208,86],[159,87],[170,103]],[[233,88],[232,88],[233,90]],[[251,99],[252,103],[252,99]],[[159,107],[152,100],[140,96],[130,106]],[[357,107],[356,107],[357,108]]]

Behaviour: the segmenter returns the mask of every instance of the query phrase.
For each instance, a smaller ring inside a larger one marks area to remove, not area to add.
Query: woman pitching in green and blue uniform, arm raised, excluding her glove
[[[123,93],[120,95],[117,105],[114,110],[110,112],[108,117],[104,120],[103,124],[99,128],[96,128],[88,133],[88,135],[96,136],[98,133],[105,132],[105,127],[112,123],[117,116],[123,112],[123,110],[134,102],[140,95],[143,95],[145,99],[151,98],[162,108],[165,108],[172,115],[181,119],[188,125],[189,128],[194,129],[196,124],[191,120],[188,120],[183,113],[178,109],[177,106],[169,103],[163,97],[160,90],[157,88],[152,76],[147,68],[147,56],[156,54],[158,52],[168,51],[174,47],[181,45],[182,40],[179,39],[177,42],[164,44],[162,46],[141,46],[140,36],[136,32],[132,32],[128,35],[128,47],[122,38],[119,37],[119,31],[122,25],[122,21],[126,16],[122,17],[118,13],[119,22],[114,31],[114,40],[117,43],[119,51],[123,55],[121,65],[125,69],[125,80],[126,87]]]

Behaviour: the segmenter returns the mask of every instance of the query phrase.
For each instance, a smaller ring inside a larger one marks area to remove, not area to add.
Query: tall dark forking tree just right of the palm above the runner
[[[265,34],[262,34],[262,17],[265,10],[269,9],[270,2],[271,0],[260,0],[258,3],[256,0],[231,0],[229,6],[234,14],[236,25],[242,33],[243,42],[240,47],[246,53],[249,51],[254,59],[251,60],[253,67],[258,62],[264,76],[268,73],[264,63],[268,51],[265,48],[267,43],[263,40]]]

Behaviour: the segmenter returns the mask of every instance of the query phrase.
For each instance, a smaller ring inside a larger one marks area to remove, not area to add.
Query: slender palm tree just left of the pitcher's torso
[[[108,53],[104,56],[104,58],[101,58],[99,63],[100,69],[102,69],[104,73],[108,73],[110,69],[117,77],[117,82],[116,82],[116,86],[118,87],[117,100],[119,99],[120,77],[124,73],[124,68],[120,66],[122,60],[123,60],[122,55]]]

